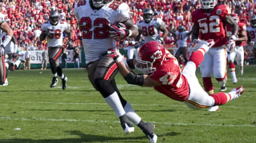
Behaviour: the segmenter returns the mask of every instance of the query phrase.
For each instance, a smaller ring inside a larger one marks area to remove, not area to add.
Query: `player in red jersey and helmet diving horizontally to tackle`
[[[208,108],[226,104],[238,98],[244,91],[243,87],[233,88],[229,93],[219,92],[209,96],[196,78],[196,68],[204,59],[205,53],[214,45],[213,39],[196,41],[199,48],[193,52],[187,65],[180,70],[177,59],[157,41],[149,41],[142,45],[136,58],[135,68],[144,75],[134,74],[119,60],[115,52],[108,52],[118,65],[121,75],[129,84],[143,87],[154,87],[163,95],[176,101],[184,102],[190,108]]]

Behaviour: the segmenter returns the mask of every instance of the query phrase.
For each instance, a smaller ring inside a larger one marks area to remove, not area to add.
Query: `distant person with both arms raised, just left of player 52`
[[[182,64],[180,55],[183,55],[183,58],[185,60],[185,63],[183,63],[183,65],[185,65],[188,61],[188,59],[187,59],[187,40],[188,40],[188,36],[191,35],[192,30],[190,32],[188,32],[187,30],[185,30],[185,27],[183,25],[179,25],[178,30],[176,32],[172,32],[171,30],[169,32],[172,33],[172,35],[176,39],[178,47],[179,47],[179,49],[175,53],[175,58],[177,58],[179,63]]]

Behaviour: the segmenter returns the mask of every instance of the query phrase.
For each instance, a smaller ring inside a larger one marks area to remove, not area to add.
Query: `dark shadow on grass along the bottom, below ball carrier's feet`
[[[141,139],[146,139],[146,136],[138,137],[108,137],[108,136],[99,136],[99,135],[90,135],[84,134],[81,131],[65,131],[70,135],[80,136],[80,138],[66,138],[66,139],[0,139],[0,142],[19,142],[19,143],[46,143],[46,142],[61,142],[61,143],[80,143],[80,142],[148,142],[148,141],[139,141]],[[158,141],[164,141],[167,136],[176,136],[180,135],[177,132],[170,132],[164,135],[157,135]]]

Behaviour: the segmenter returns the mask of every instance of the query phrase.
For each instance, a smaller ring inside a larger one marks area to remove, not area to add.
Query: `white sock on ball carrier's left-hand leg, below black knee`
[[[116,91],[112,93],[112,95],[108,96],[107,98],[104,98],[104,100],[115,111],[116,116],[120,117],[126,114],[126,111],[124,111],[123,105],[121,104],[121,101]]]

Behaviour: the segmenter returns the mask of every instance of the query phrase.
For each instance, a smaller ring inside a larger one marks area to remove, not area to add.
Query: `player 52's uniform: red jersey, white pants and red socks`
[[[213,94],[213,84],[211,75],[219,81],[221,91],[226,88],[226,49],[227,36],[224,27],[224,19],[230,15],[230,9],[227,5],[216,5],[212,12],[204,13],[202,8],[192,13],[192,22],[199,26],[199,38],[208,40],[213,39],[215,45],[204,56],[204,61],[200,65],[200,71],[204,81],[205,91],[209,95]]]

